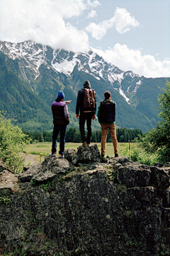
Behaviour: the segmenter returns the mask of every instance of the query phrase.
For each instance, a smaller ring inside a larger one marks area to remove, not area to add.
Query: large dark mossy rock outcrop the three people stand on
[[[0,255],[169,255],[170,164],[65,157],[1,171]]]

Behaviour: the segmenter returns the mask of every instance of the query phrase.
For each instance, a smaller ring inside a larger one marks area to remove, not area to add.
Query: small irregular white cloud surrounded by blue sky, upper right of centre
[[[130,28],[137,26],[140,26],[140,23],[126,9],[117,8],[113,18],[98,24],[92,22],[86,26],[86,31],[91,33],[91,36],[96,40],[100,40],[106,35],[109,28],[115,27],[118,33],[123,34],[130,31]]]

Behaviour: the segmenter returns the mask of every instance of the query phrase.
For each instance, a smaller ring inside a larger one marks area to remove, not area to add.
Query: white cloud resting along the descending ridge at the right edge
[[[129,49],[126,45],[116,43],[114,48],[106,51],[94,49],[108,63],[112,63],[123,71],[144,75],[146,78],[170,77],[170,60],[155,60],[152,55],[142,55],[140,50]]]

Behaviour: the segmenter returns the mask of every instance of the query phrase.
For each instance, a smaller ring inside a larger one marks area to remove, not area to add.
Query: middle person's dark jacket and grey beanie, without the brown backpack
[[[84,109],[84,89],[87,88],[91,88],[91,84],[89,82],[89,80],[86,80],[84,82],[84,87],[83,89],[79,90],[78,95],[77,95],[77,106],[76,106],[76,114],[79,114],[79,112],[84,112],[86,111]],[[96,104],[95,104],[95,108],[94,110],[92,110],[92,112],[94,112],[94,114],[96,113]]]

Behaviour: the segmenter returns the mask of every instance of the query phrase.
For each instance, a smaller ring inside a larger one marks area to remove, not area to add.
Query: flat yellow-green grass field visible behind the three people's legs
[[[101,143],[91,143],[91,144],[97,144],[98,149],[101,151]],[[59,145],[60,143],[57,143],[57,153],[59,151]],[[79,146],[81,146],[81,143],[66,143],[65,144],[65,150],[67,149],[77,149]],[[125,146],[125,143],[118,143],[118,151],[120,149],[123,149]],[[51,152],[52,143],[51,142],[39,142],[39,143],[33,143],[30,144],[28,147],[29,154],[49,154]],[[113,144],[111,142],[106,143],[106,156],[114,156],[114,150],[113,150]],[[121,156],[121,154],[119,154]]]

